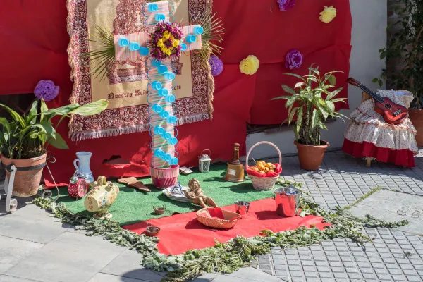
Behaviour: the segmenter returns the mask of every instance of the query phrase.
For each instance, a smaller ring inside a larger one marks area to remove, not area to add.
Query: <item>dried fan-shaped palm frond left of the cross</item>
[[[90,45],[92,51],[82,54],[81,57],[91,60],[90,75],[104,80],[115,63],[114,36],[109,30],[98,25],[94,27],[94,32],[90,33],[90,36],[92,39],[89,41],[93,43]]]

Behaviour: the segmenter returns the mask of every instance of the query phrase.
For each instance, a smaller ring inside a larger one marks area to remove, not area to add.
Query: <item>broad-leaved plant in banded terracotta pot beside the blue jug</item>
[[[22,116],[8,106],[0,104],[0,107],[11,116],[10,122],[0,117],[1,162],[4,167],[13,164],[20,168],[16,171],[13,195],[30,197],[37,194],[42,169],[46,163],[48,145],[68,149],[63,137],[56,132],[63,118],[71,114],[81,116],[99,114],[108,104],[106,100],[99,100],[83,106],[71,104],[48,109],[43,99],[35,99],[28,114]],[[55,116],[61,116],[56,126],[51,121]],[[9,175],[6,170],[6,176]]]

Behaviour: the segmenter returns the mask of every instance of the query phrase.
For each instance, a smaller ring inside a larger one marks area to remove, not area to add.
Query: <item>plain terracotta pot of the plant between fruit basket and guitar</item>
[[[329,142],[324,140],[320,141],[321,145],[302,145],[297,141],[294,144],[298,150],[298,160],[300,161],[300,167],[307,171],[317,171],[323,161],[324,152],[329,147]]]

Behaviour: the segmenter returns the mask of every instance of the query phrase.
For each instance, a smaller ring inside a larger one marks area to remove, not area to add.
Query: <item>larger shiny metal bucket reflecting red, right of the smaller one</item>
[[[298,215],[298,204],[300,204],[301,191],[294,185],[289,187],[276,188],[276,214],[280,216]]]

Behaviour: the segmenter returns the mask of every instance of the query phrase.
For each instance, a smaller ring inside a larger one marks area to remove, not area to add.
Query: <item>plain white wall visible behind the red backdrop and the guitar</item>
[[[350,0],[351,13],[353,14],[353,34],[351,45],[353,50],[350,57],[350,76],[360,80],[364,85],[376,87],[372,79],[378,77],[381,69],[385,68],[384,62],[379,59],[378,50],[386,47],[387,6],[386,0]],[[348,89],[348,102],[350,110],[342,110],[341,114],[348,116],[351,110],[361,103],[361,90],[357,87]],[[330,143],[329,149],[340,149],[343,145],[343,132],[348,121],[329,123],[328,130],[322,130],[322,139]],[[247,136],[247,150],[259,141],[274,143],[282,154],[296,154],[297,149],[292,128],[283,127],[281,130],[266,133],[255,133]],[[255,159],[274,157],[275,149],[268,145],[258,146],[254,149]],[[251,157],[250,157],[251,159]]]

